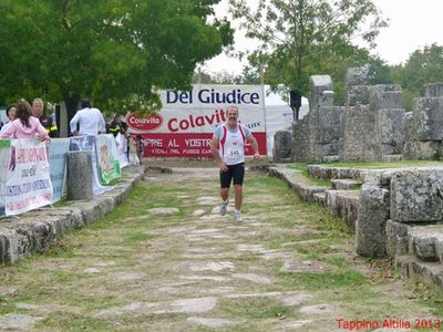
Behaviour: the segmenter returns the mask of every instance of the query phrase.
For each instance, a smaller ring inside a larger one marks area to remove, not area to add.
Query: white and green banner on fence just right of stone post
[[[115,139],[112,134],[95,136],[100,180],[107,185],[122,177]]]

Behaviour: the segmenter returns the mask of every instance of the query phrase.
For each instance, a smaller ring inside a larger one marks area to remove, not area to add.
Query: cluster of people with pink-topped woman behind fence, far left
[[[0,138],[35,138],[50,141],[59,137],[52,117],[43,114],[43,101],[34,98],[32,106],[24,100],[7,108],[9,122],[1,127]]]

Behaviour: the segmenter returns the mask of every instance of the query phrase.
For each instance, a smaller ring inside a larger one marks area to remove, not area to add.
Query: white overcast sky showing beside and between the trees
[[[250,0],[253,3],[254,0]],[[443,0],[372,0],[390,19],[389,28],[381,30],[377,39],[375,52],[389,64],[404,62],[416,49],[437,43],[443,45]],[[216,7],[217,14],[228,15],[228,0]],[[235,25],[235,24],[234,24]],[[254,43],[247,41],[239,31],[235,35],[235,48],[245,50]],[[205,63],[210,72],[240,73],[243,64],[225,54]]]

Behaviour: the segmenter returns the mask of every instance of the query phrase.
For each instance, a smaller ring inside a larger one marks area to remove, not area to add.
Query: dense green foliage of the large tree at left
[[[157,89],[187,89],[195,65],[233,41],[219,0],[3,0],[0,102],[81,97],[110,112],[150,111]]]

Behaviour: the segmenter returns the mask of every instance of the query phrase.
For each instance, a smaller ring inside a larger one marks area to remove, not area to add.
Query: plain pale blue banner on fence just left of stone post
[[[55,138],[49,146],[49,168],[52,181],[52,201],[60,200],[66,177],[66,153],[70,147],[70,138]]]

